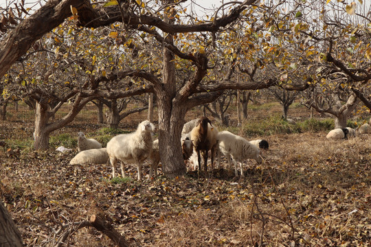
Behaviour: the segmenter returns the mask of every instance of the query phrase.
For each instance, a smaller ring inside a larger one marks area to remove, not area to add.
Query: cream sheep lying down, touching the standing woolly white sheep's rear
[[[76,154],[69,161],[70,165],[82,164],[105,164],[109,161],[109,155],[106,148],[84,150]]]

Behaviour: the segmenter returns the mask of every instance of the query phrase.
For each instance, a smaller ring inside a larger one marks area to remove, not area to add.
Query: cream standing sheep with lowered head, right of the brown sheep
[[[218,133],[218,148],[225,155],[229,165],[234,163],[234,174],[238,176],[237,162],[240,163],[240,173],[243,175],[242,161],[247,158],[253,158],[258,164],[262,163],[260,149],[245,138],[224,130]]]

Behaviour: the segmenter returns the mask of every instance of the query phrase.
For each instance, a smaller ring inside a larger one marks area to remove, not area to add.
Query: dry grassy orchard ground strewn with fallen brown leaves
[[[82,126],[76,121],[60,132],[78,132]],[[100,128],[86,127],[87,132]],[[1,128],[15,138],[31,127],[3,121]],[[368,246],[370,136],[347,141],[325,136],[264,137],[270,145],[265,163],[256,167],[247,161],[242,180],[225,166],[209,179],[190,173],[138,183],[131,166],[126,175],[132,179],[112,183],[109,165],[71,166],[74,154],[49,150],[8,156],[0,150],[0,198],[27,246],[55,246],[60,235],[52,228],[95,213],[109,215],[129,242],[141,246],[255,246],[260,241],[264,246]],[[68,242],[113,246],[94,228],[80,229]]]

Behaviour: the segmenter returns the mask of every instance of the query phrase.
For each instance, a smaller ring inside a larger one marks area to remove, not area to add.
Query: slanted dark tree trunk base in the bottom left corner
[[[23,246],[21,233],[19,233],[16,225],[8,210],[5,209],[3,202],[0,202],[0,246],[2,247],[18,247]]]

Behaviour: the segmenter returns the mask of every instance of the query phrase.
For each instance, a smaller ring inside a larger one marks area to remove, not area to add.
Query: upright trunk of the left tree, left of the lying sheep
[[[36,102],[35,114],[35,132],[34,132],[34,149],[47,150],[49,148],[49,134],[47,124],[49,123],[49,113],[47,104]]]

